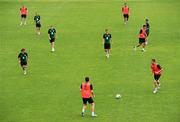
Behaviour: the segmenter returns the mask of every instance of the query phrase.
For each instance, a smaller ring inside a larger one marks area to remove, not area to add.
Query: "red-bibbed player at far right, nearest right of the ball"
[[[156,93],[160,88],[159,78],[161,77],[162,68],[159,64],[156,63],[156,59],[151,60],[151,70],[154,74],[154,90],[153,93]]]

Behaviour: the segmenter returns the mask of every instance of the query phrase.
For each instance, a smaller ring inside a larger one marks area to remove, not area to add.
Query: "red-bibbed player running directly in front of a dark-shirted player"
[[[134,50],[136,50],[137,47],[142,46],[142,52],[145,52],[146,47],[146,25],[143,25],[143,28],[139,31],[139,44],[137,46],[134,46]]]

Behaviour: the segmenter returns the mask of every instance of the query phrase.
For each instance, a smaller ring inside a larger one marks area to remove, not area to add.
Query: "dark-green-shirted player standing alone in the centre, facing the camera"
[[[104,51],[107,58],[109,58],[109,55],[110,55],[111,42],[112,42],[112,36],[108,32],[108,29],[106,29],[105,34],[103,35],[103,44],[104,44]]]

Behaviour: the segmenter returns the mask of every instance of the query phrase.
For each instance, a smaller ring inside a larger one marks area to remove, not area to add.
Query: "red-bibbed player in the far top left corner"
[[[28,13],[28,10],[27,8],[23,5],[21,8],[20,8],[20,14],[21,14],[21,23],[20,25],[26,25],[26,17],[27,17],[27,13]]]

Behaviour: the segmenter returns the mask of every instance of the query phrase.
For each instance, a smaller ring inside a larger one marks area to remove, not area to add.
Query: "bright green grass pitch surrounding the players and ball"
[[[19,8],[29,9],[20,27]],[[28,0],[0,2],[0,122],[178,122],[180,121],[179,58],[180,1],[129,1],[128,25],[122,1]],[[42,35],[35,35],[34,13],[41,15]],[[134,52],[145,18],[151,33],[147,52]],[[47,29],[57,29],[56,52],[50,52]],[[106,59],[102,34],[113,36]],[[19,50],[29,54],[28,75],[17,62]],[[150,60],[163,66],[162,87],[152,93]],[[79,85],[90,76],[96,93],[97,118],[90,108],[80,116]],[[121,100],[115,94],[122,95]]]

